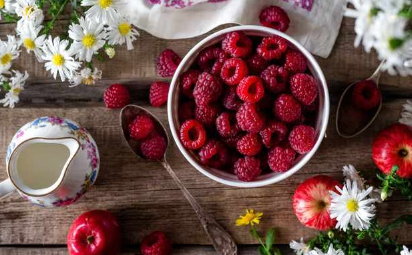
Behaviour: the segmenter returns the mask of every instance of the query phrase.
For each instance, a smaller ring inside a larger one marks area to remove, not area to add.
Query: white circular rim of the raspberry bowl
[[[321,85],[323,87],[324,91],[324,109],[323,109],[323,115],[321,116],[322,123],[320,126],[320,132],[319,132],[319,137],[313,147],[313,149],[305,154],[291,169],[284,173],[280,173],[279,175],[272,176],[270,178],[264,179],[264,180],[256,180],[253,182],[234,182],[231,180],[223,179],[221,177],[218,177],[211,172],[207,171],[204,169],[204,167],[198,163],[196,160],[194,160],[189,153],[186,151],[186,148],[184,148],[183,144],[180,142],[179,134],[176,131],[177,128],[174,125],[174,115],[173,115],[173,91],[176,88],[176,85],[178,84],[178,79],[180,74],[182,73],[182,69],[185,66],[185,63],[189,61],[192,57],[192,55],[196,52],[199,51],[200,48],[204,46],[207,42],[222,36],[226,33],[229,32],[234,32],[234,31],[243,31],[243,30],[249,30],[249,31],[258,31],[258,32],[265,32],[271,35],[278,35],[280,37],[285,38],[288,40],[290,43],[292,43],[300,52],[302,52],[307,60],[311,63],[314,71],[317,73],[319,76],[318,79],[321,82]],[[320,144],[323,141],[323,138],[325,137],[326,129],[328,126],[329,122],[329,114],[330,114],[330,99],[329,99],[329,90],[328,86],[326,83],[325,76],[322,72],[322,69],[320,68],[318,62],[316,59],[313,57],[313,55],[305,48],[303,47],[298,41],[290,37],[289,35],[282,33],[278,30],[274,30],[268,27],[263,27],[263,26],[255,26],[255,25],[242,25],[242,26],[234,26],[226,29],[219,30],[206,38],[202,39],[200,42],[198,42],[187,54],[186,56],[182,59],[180,62],[173,78],[170,83],[170,90],[169,90],[169,95],[168,95],[168,102],[167,102],[167,116],[168,116],[168,122],[169,122],[169,128],[171,130],[173,140],[175,141],[177,147],[179,148],[179,151],[183,154],[183,156],[186,158],[186,160],[194,167],[196,168],[199,172],[204,174],[205,176],[209,177],[210,179],[217,181],[219,183],[233,186],[233,187],[240,187],[240,188],[255,188],[255,187],[263,187],[267,186],[270,184],[274,184],[277,182],[280,182],[282,180],[285,180],[286,178],[290,177],[291,175],[295,174],[298,172],[303,166],[305,166],[308,161],[313,157],[313,155],[316,153],[316,151],[319,149]]]

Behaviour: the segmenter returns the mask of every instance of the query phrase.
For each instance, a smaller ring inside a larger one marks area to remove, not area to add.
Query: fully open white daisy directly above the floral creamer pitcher
[[[57,78],[58,73],[62,81],[66,78],[70,80],[81,65],[80,62],[74,60],[74,53],[67,49],[68,46],[69,41],[60,40],[59,37],[53,39],[51,36],[43,45],[42,59],[46,61],[46,70],[53,74],[54,79]]]

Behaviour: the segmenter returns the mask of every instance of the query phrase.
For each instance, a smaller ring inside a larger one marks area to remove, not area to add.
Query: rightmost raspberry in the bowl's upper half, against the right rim
[[[290,78],[290,91],[304,105],[312,104],[318,96],[315,78],[305,73],[298,73]]]

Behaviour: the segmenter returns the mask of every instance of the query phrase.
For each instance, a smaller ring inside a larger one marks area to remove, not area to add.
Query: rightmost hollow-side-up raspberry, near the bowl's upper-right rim
[[[287,42],[280,36],[265,37],[256,49],[256,52],[266,60],[280,59],[288,48]]]

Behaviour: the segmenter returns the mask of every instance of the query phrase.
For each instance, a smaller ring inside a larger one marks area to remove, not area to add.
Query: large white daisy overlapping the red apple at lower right
[[[375,216],[375,199],[368,198],[373,187],[367,190],[358,189],[356,181],[346,180],[342,189],[338,186],[336,189],[338,193],[330,191],[330,217],[338,221],[336,228],[346,232],[350,224],[357,230],[368,229],[370,221]]]

